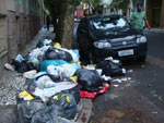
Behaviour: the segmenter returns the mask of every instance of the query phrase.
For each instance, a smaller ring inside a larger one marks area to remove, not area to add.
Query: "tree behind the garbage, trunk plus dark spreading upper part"
[[[45,7],[49,10],[56,32],[56,40],[62,47],[71,48],[74,28],[75,7],[85,0],[44,0]],[[98,7],[101,0],[86,0],[86,3]],[[58,20],[58,24],[57,24]]]

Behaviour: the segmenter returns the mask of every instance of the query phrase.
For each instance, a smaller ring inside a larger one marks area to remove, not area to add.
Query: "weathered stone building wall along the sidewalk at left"
[[[44,24],[42,0],[0,0],[0,71]]]

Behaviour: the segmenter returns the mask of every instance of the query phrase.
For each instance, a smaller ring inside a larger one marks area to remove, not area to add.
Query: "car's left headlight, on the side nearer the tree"
[[[105,41],[105,40],[95,41],[95,42],[94,42],[94,46],[95,46],[96,48],[99,48],[99,49],[103,49],[103,48],[110,48],[110,47],[112,47],[112,45],[110,45],[109,42],[107,42],[107,40],[106,40],[106,41]]]

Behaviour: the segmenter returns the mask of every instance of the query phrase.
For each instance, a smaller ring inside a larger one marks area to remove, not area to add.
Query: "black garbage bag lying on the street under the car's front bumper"
[[[102,69],[103,74],[106,76],[121,76],[126,73],[120,61],[118,63],[114,63],[110,60],[104,60],[96,65],[96,69]]]

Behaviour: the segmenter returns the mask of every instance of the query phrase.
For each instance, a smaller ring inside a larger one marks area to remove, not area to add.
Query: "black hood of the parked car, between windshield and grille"
[[[94,41],[102,39],[115,39],[115,38],[125,38],[128,36],[142,35],[134,28],[113,28],[108,30],[93,30],[91,32],[91,37]]]

